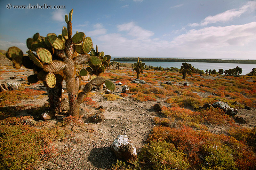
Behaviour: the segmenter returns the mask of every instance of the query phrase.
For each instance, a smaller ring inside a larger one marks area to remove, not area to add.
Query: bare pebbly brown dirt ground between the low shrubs
[[[22,68],[22,72],[14,73],[15,69],[10,68],[11,62],[5,59],[0,60],[1,69],[8,70],[1,75],[3,78],[0,81],[21,81],[20,77],[26,77],[33,74],[26,68]],[[124,68],[123,68],[124,69]],[[9,77],[16,75],[18,79],[10,80]],[[209,78],[210,76],[207,76]],[[214,76],[211,76],[214,78]],[[160,81],[159,81],[160,84]],[[190,82],[193,84],[193,82]],[[162,86],[156,85],[161,88]],[[31,85],[29,88],[45,90],[43,84]],[[65,87],[63,87],[65,88]],[[116,84],[116,90],[112,94],[120,96],[122,93],[122,86]],[[111,144],[117,135],[127,135],[132,143],[140,151],[143,145],[146,143],[146,139],[150,134],[150,131],[156,124],[154,123],[154,117],[159,116],[154,111],[153,106],[156,103],[161,103],[163,106],[170,106],[165,103],[166,98],[157,98],[157,101],[138,102],[133,98],[125,97],[116,101],[107,101],[98,92],[92,96],[92,100],[96,101],[100,105],[106,107],[105,120],[100,123],[87,123],[84,127],[70,126],[73,134],[69,139],[61,139],[55,143],[55,146],[60,153],[59,156],[51,158],[45,162],[38,164],[36,169],[65,169],[65,170],[97,170],[106,169],[109,170],[111,165],[116,163],[115,155],[111,151]],[[198,93],[199,96],[205,97],[210,94]],[[26,100],[17,105],[23,104],[37,104],[43,105],[47,103],[48,97],[44,97],[38,100]],[[90,114],[98,112],[96,108],[91,106],[81,105],[84,108],[90,110]],[[255,127],[256,116],[255,108],[253,110],[238,109],[238,115],[243,117],[247,124],[244,126]],[[28,115],[23,112],[21,115]],[[59,120],[46,120],[50,125],[54,125]],[[225,133],[223,127],[212,126],[206,124],[209,131],[217,134]],[[74,133],[75,132],[75,133]]]

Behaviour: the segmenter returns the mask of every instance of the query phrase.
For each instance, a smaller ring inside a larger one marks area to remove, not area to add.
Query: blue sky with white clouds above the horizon
[[[0,49],[61,34],[71,9],[73,34],[113,57],[256,59],[256,0],[0,0]]]

